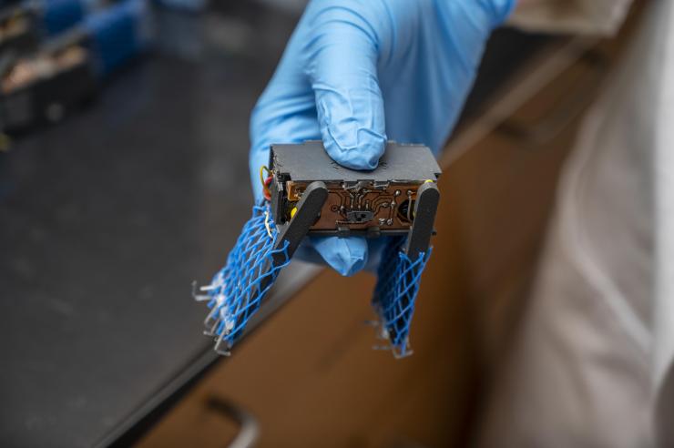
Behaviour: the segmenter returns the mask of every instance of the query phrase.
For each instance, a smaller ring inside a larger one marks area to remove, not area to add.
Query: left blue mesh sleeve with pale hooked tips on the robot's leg
[[[220,351],[227,352],[237,341],[281,269],[290,263],[287,241],[281,249],[273,249],[277,238],[269,206],[253,207],[227,264],[210,285],[201,288],[208,295],[196,296],[209,300],[207,334],[216,338]]]

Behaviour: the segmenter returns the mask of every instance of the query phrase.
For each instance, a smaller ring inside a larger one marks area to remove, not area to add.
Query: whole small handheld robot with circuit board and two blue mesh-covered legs
[[[230,353],[302,239],[361,235],[387,238],[373,308],[394,356],[409,355],[414,300],[440,200],[439,176],[433,153],[422,145],[389,142],[371,171],[340,166],[320,141],[272,145],[269,168],[260,169],[266,200],[253,207],[226,265],[201,287],[206,294],[194,286],[194,298],[208,301],[205,333],[215,339],[215,350]]]

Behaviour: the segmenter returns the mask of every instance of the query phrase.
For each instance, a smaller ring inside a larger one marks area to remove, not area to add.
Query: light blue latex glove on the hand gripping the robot
[[[250,123],[250,173],[271,143],[322,139],[336,162],[376,168],[384,143],[440,150],[472,87],[485,41],[515,0],[314,0]],[[297,256],[342,275],[377,263],[384,239],[312,237]],[[370,256],[369,256],[370,255]],[[370,261],[370,263],[368,263]]]

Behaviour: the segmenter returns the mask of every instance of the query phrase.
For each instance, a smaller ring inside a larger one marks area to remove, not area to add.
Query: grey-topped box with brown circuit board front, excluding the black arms
[[[429,148],[393,142],[372,171],[337,165],[321,142],[274,145],[269,171],[266,184],[275,222],[290,221],[304,190],[320,180],[328,196],[310,233],[372,238],[409,232],[417,191],[440,175]]]

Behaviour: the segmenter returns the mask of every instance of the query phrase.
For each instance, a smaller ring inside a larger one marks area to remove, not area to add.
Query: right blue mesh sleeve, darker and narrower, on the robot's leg
[[[382,336],[391,342],[396,357],[412,353],[408,341],[414,301],[433,249],[429,248],[413,261],[403,252],[404,241],[405,238],[396,237],[386,245],[373,296],[373,308],[382,324]]]

